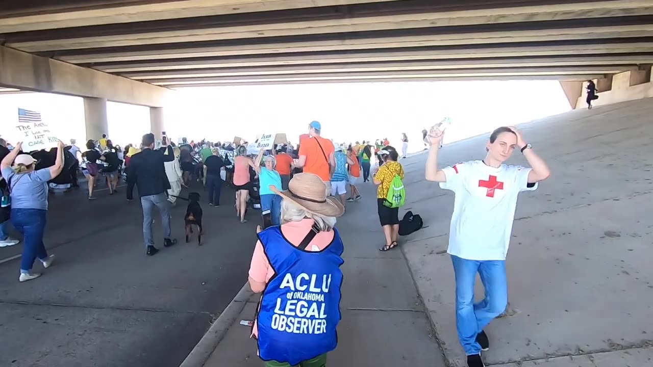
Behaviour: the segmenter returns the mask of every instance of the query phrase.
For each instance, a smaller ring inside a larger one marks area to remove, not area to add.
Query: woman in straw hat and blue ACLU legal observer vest
[[[342,204],[310,173],[296,174],[281,195],[281,224],[259,231],[249,285],[262,292],[252,329],[267,367],[323,367],[336,349],[343,244]]]

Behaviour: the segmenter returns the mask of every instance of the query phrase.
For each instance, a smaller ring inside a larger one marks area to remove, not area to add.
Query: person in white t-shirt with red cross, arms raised
[[[436,136],[433,136],[436,135]],[[489,347],[483,332],[504,310],[508,300],[505,255],[515,219],[517,195],[537,189],[549,177],[549,167],[515,127],[500,127],[487,142],[483,161],[438,169],[443,134],[431,131],[426,180],[455,193],[447,253],[456,276],[456,327],[469,367],[483,367],[481,350]],[[503,164],[519,150],[531,168]],[[485,299],[474,304],[476,273]]]

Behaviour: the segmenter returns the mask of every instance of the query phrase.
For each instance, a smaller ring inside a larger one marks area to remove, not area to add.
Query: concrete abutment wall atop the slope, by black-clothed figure
[[[624,101],[633,101],[653,97],[652,67],[645,70],[625,71],[614,74],[611,78],[595,80],[599,99],[592,103],[593,106],[612,104]],[[561,83],[562,85],[562,83]],[[582,94],[576,102],[576,108],[587,108],[586,98],[587,83],[582,83]],[[566,91],[565,91],[566,93]]]

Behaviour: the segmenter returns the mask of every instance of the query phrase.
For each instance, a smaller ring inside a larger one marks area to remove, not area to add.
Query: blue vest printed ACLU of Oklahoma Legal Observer
[[[336,349],[344,261],[342,240],[334,231],[333,241],[322,251],[293,246],[278,226],[259,233],[275,272],[257,315],[261,359],[295,366]]]

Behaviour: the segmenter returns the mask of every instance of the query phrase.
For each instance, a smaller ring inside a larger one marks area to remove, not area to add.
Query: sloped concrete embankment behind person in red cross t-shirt
[[[651,116],[653,99],[643,99],[520,126],[552,176],[520,195],[507,260],[511,315],[486,328],[486,363],[653,365]],[[445,146],[441,165],[483,158],[487,137]],[[402,247],[447,361],[465,366],[445,253],[453,193],[424,181],[425,160],[404,161],[406,209],[430,227]],[[515,152],[509,163],[526,161]]]

